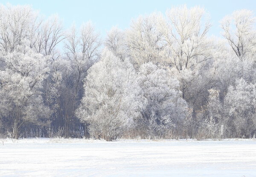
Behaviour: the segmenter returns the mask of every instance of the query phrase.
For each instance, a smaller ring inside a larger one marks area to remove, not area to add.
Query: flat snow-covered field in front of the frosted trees
[[[256,141],[0,140],[1,177],[256,177]]]

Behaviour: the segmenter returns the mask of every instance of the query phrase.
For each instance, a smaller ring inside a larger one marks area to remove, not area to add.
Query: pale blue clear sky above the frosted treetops
[[[256,13],[256,0],[0,0],[0,3],[28,4],[45,16],[58,14],[65,28],[73,23],[79,27],[90,20],[102,37],[112,26],[128,28],[140,14],[165,13],[168,8],[183,4],[204,7],[211,17],[209,34],[216,36],[220,36],[219,20],[225,15],[244,8]]]

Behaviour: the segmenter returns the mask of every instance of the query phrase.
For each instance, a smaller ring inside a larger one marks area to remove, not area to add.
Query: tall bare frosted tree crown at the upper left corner
[[[34,40],[33,34],[39,25],[38,14],[30,6],[0,5],[1,54],[13,52],[24,42]]]

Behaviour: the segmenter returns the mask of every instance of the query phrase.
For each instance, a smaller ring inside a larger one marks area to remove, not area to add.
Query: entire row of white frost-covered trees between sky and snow
[[[64,29],[29,6],[0,6],[0,134],[20,137],[252,138],[252,11],[221,20],[179,6],[113,27]],[[63,47],[63,48],[62,48]]]

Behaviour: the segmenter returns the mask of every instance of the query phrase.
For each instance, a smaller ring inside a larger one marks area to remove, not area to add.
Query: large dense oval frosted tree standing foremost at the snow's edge
[[[128,59],[122,61],[107,50],[89,69],[76,113],[81,121],[90,124],[95,138],[116,139],[140,115],[143,103],[136,78]]]

